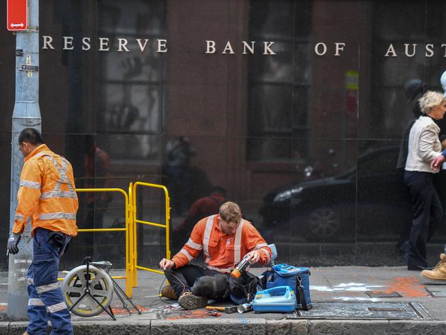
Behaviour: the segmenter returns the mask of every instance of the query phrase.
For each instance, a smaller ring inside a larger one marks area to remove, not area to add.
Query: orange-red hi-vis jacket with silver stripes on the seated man
[[[207,268],[230,273],[244,255],[253,250],[259,252],[259,264],[270,262],[271,249],[251,222],[242,219],[234,235],[227,235],[220,229],[218,215],[213,215],[198,221],[189,241],[172,260],[180,268],[203,251]]]

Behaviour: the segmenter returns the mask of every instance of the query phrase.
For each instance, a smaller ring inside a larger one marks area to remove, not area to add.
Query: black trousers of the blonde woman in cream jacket
[[[445,211],[429,172],[404,173],[412,203],[412,227],[408,240],[408,266],[427,266],[426,244],[438,229]]]

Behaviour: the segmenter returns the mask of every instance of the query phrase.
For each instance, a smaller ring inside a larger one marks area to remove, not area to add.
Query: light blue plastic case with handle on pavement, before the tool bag
[[[290,286],[258,290],[253,300],[256,313],[291,313],[296,307],[296,295]]]

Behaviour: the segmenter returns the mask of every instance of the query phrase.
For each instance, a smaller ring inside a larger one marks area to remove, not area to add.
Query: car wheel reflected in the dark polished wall
[[[331,238],[340,228],[338,213],[330,207],[320,207],[308,214],[306,227],[312,239]]]

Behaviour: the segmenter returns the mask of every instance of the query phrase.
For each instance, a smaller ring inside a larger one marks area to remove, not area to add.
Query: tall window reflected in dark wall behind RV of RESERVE
[[[163,38],[165,27],[164,1],[104,0],[99,1],[98,6],[98,34],[110,41],[110,51],[99,52],[98,131],[159,135],[163,111],[163,54],[156,50],[157,39]],[[119,38],[128,41],[129,52],[117,51]],[[117,137],[121,145],[110,147],[110,156],[114,159],[159,157],[156,137]]]

